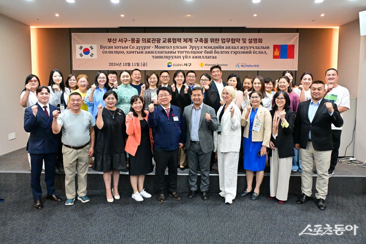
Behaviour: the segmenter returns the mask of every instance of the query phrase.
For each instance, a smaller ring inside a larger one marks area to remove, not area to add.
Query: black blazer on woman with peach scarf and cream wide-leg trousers
[[[288,127],[282,128],[281,126],[281,119],[280,123],[278,124],[278,134],[276,139],[273,138],[273,134],[271,134],[271,141],[275,144],[275,147],[278,149],[278,156],[279,158],[288,158],[295,156],[294,152],[294,138],[292,137],[292,130],[294,129],[294,122],[295,122],[295,112],[291,109],[285,110],[286,115],[285,119],[288,122]],[[270,110],[272,121],[273,116],[275,116],[275,110]]]

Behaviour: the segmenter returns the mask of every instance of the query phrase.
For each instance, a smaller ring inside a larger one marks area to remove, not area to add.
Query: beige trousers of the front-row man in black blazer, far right
[[[317,199],[322,198],[325,200],[328,193],[328,169],[330,166],[330,151],[316,151],[313,148],[312,142],[307,142],[306,149],[300,148],[299,156],[302,164],[301,171],[301,191],[307,196],[311,196],[311,187],[313,186],[313,166],[314,162],[317,167],[318,177],[315,188],[317,193],[315,197]]]

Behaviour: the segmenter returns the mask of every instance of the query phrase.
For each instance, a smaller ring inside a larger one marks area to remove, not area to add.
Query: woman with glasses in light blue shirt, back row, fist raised
[[[86,93],[84,101],[86,106],[89,107],[88,111],[91,113],[91,115],[93,115],[94,122],[96,122],[95,116],[98,114],[99,104],[101,104],[103,108],[105,107],[103,96],[107,91],[107,88],[105,88],[106,83],[108,84],[107,73],[104,71],[99,71],[95,76],[94,84],[91,85],[91,88]]]

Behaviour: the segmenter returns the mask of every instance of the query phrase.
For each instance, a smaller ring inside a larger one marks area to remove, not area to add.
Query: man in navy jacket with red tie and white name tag
[[[147,124],[153,131],[155,180],[158,190],[158,202],[165,202],[165,169],[168,166],[168,191],[175,200],[182,199],[176,191],[178,177],[179,148],[186,143],[186,121],[182,111],[177,106],[171,105],[171,90],[160,87],[157,90],[160,105],[154,109],[154,104],[149,105]]]

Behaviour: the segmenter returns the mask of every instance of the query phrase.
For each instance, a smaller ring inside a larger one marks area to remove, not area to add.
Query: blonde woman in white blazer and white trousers
[[[225,104],[217,111],[219,129],[213,134],[213,151],[217,151],[220,196],[225,198],[225,203],[230,204],[235,199],[238,180],[240,109],[232,101],[235,99],[233,87],[225,86],[221,97]]]

